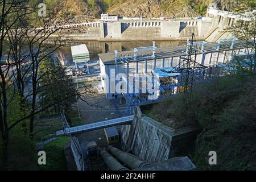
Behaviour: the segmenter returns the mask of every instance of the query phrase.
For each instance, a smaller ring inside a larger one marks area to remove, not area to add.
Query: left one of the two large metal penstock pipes
[[[123,167],[112,155],[110,155],[107,151],[101,150],[100,151],[101,157],[109,167],[111,171],[128,171],[129,169]]]

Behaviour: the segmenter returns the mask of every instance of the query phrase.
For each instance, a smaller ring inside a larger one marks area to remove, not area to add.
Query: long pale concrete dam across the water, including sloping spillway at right
[[[245,23],[251,19],[246,14],[208,9],[207,16],[199,18],[115,19],[67,24],[63,27],[86,27],[82,34],[69,35],[74,40],[135,41],[135,40],[186,40],[193,32],[197,40],[216,42],[230,38],[228,28],[238,20]],[[56,27],[48,27],[55,30]],[[54,37],[54,35],[52,36]]]

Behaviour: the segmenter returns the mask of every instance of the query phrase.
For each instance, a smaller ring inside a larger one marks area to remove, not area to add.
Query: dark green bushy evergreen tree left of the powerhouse
[[[65,75],[65,69],[59,64],[53,63],[51,57],[43,60],[40,64],[39,76],[42,76],[42,83],[39,94],[40,105],[50,105],[45,112],[60,113],[62,110],[71,109],[71,105],[76,101],[76,86],[71,77]],[[56,92],[56,88],[58,91]],[[59,102],[61,97],[67,97],[62,102]]]

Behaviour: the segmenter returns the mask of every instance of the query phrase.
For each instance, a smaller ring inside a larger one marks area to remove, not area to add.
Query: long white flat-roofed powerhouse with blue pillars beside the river
[[[226,63],[229,61],[230,55],[246,52],[245,44],[234,39],[225,39],[225,42],[220,40],[218,43],[197,42],[197,49],[197,63],[207,67],[217,63]],[[185,56],[185,45],[156,48],[154,57],[152,57],[152,49],[140,49],[136,54],[134,52],[99,54],[101,82],[108,100],[119,98],[119,93],[115,90],[119,83],[119,80],[115,79],[118,73],[123,73],[131,78],[136,75],[154,73],[158,68],[176,67],[179,65],[181,57]],[[113,71],[112,74],[110,74],[111,71]],[[210,69],[207,69],[204,75],[209,74]]]

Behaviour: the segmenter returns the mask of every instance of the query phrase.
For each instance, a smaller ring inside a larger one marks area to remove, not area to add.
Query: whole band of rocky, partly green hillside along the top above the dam
[[[207,7],[220,10],[243,11],[243,1],[237,0],[53,0],[49,2],[61,15],[90,16],[100,18],[101,13],[119,16],[191,17],[205,15]]]

